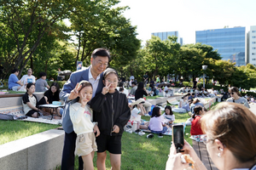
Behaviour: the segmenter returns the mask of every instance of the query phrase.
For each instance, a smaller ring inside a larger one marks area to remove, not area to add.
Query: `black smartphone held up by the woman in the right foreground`
[[[183,152],[184,127],[183,125],[172,125],[172,142],[175,144],[176,151]]]

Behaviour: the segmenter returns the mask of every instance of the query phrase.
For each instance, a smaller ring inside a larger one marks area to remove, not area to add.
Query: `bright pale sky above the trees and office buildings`
[[[152,32],[178,31],[183,43],[195,43],[195,31],[256,26],[256,0],[120,0],[124,15],[137,26],[143,43]]]

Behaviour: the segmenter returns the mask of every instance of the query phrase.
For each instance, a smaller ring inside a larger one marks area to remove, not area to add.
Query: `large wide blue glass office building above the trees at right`
[[[245,27],[195,31],[195,42],[211,45],[218,50],[222,59],[230,59],[236,62],[236,66],[246,65]]]

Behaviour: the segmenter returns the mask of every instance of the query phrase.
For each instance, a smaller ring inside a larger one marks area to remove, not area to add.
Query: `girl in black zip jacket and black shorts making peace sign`
[[[103,72],[102,94],[96,95],[90,107],[96,112],[96,121],[99,123],[101,134],[96,138],[98,146],[97,168],[106,169],[105,161],[107,150],[113,170],[121,166],[121,138],[125,124],[131,116],[130,108],[125,94],[120,94],[115,88],[119,82],[115,70],[108,68]]]

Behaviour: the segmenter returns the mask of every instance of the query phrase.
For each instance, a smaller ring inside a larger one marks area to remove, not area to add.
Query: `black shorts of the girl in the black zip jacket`
[[[97,152],[104,152],[108,150],[109,153],[112,154],[122,154],[121,139],[121,135],[109,136],[101,133],[100,136],[96,137],[96,143],[98,147]]]

